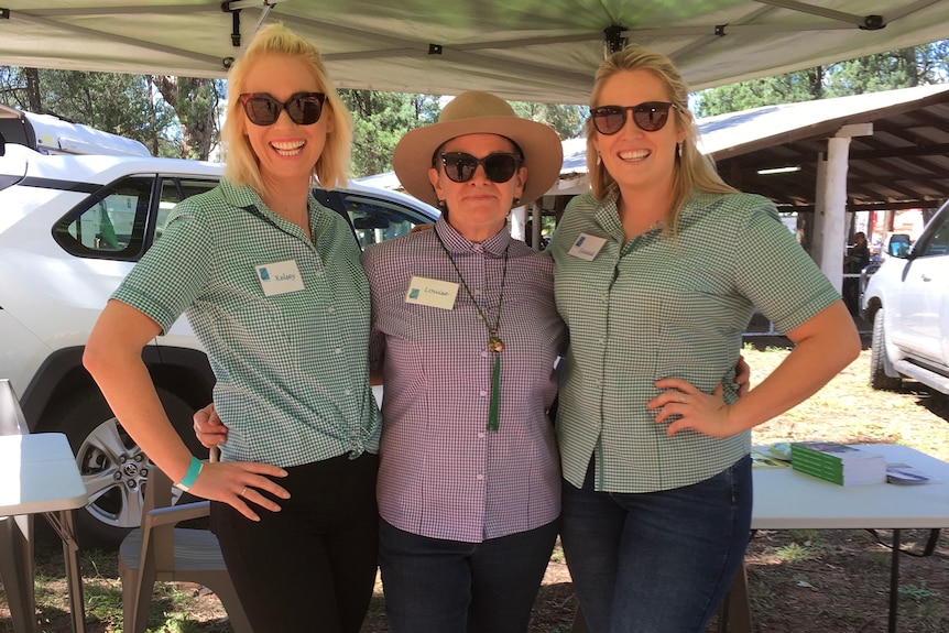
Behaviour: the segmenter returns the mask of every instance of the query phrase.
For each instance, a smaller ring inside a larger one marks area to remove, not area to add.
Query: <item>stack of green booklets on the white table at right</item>
[[[886,458],[836,441],[794,441],[790,466],[840,485],[864,485],[886,481]]]

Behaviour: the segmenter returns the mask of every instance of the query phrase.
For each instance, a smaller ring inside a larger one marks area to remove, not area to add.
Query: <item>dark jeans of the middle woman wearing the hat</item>
[[[418,536],[382,521],[379,538],[392,633],[525,633],[557,522],[463,543]]]

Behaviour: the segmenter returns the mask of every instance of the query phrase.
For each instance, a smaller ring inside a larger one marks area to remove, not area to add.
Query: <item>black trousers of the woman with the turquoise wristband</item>
[[[260,522],[211,503],[211,528],[254,633],[359,633],[375,582],[379,457],[286,469],[282,510]]]

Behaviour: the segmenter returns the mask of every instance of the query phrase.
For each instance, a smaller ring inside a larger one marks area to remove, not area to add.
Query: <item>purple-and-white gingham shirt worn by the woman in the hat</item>
[[[405,303],[413,276],[458,283],[445,241],[491,323],[509,248],[499,337],[498,432],[486,429],[493,358],[488,329],[459,285],[454,309]],[[560,513],[553,424],[554,361],[566,330],[554,305],[553,263],[506,230],[481,243],[440,218],[434,230],[369,247],[373,365],[385,397],[379,509],[392,525],[433,538],[480,543],[539,527]]]

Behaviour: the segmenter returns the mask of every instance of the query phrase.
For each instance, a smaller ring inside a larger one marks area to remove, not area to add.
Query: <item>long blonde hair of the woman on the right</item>
[[[636,44],[610,55],[600,65],[593,78],[590,107],[602,106],[599,99],[607,79],[629,70],[647,70],[655,75],[665,87],[668,100],[676,105],[676,108],[672,109],[676,124],[686,132],[681,143],[681,154],[676,161],[673,204],[665,218],[666,228],[673,227],[674,229],[683,205],[692,189],[698,188],[715,194],[733,194],[737,193],[737,189],[726,184],[716,171],[712,160],[698,151],[699,131],[688,112],[688,86],[672,59],[665,55],[654,53]],[[593,146],[597,131],[593,128],[592,118],[587,119],[585,130],[587,133],[587,171],[590,174],[593,195],[597,199],[602,200],[617,193],[619,187],[606,166],[597,164],[597,150]]]

